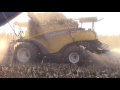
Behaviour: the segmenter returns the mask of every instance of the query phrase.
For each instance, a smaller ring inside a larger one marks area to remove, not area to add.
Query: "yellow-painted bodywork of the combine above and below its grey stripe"
[[[20,23],[20,25],[22,24]],[[50,38],[46,37],[46,34],[48,35],[49,33],[65,31],[65,30],[68,31],[74,28],[77,29],[75,24],[69,24],[69,25],[55,24],[52,26],[44,25],[41,26],[40,28],[35,27],[33,28],[33,30],[26,31],[25,39],[36,40],[37,42],[42,44],[48,50],[49,53],[56,53],[67,44],[73,42],[96,39],[96,35],[93,31],[85,31],[85,30],[77,30],[76,32],[73,33],[69,32],[65,34],[59,34]],[[39,36],[43,36],[43,37],[41,38]]]

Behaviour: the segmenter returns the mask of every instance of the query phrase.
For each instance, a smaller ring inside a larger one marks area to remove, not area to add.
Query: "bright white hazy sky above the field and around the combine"
[[[80,17],[98,17],[104,18],[102,21],[95,24],[95,31],[98,35],[113,35],[120,34],[120,12],[61,12],[68,18]],[[10,23],[14,21],[26,22],[28,20],[27,13],[23,12]],[[11,28],[8,24],[0,27],[0,32],[10,32]],[[12,32],[12,31],[11,31]]]

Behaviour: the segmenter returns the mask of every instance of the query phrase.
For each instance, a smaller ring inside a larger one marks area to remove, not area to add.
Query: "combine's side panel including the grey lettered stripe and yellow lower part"
[[[42,44],[49,53],[57,53],[68,44],[78,41],[96,40],[96,36],[93,31],[71,29],[49,32],[31,39]]]

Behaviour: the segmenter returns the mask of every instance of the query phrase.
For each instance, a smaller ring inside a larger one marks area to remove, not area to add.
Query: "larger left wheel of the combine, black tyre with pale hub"
[[[31,43],[22,43],[15,48],[13,61],[15,63],[36,62],[42,58],[37,47]]]

